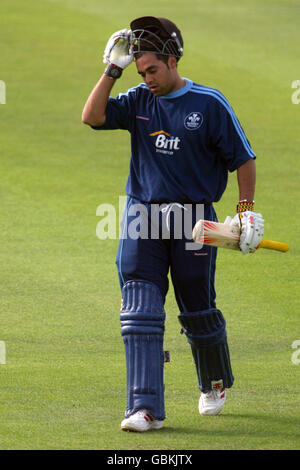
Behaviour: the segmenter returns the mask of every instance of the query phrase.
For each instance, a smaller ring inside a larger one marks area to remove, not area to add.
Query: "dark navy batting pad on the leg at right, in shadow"
[[[207,393],[212,382],[223,380],[223,387],[233,384],[227,344],[226,322],[218,309],[181,313],[179,321],[191,345],[199,388]]]

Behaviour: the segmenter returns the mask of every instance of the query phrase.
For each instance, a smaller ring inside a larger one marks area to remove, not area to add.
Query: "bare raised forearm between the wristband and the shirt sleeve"
[[[111,89],[115,79],[102,75],[95,85],[82,111],[82,122],[90,126],[103,126],[105,124],[105,112]]]

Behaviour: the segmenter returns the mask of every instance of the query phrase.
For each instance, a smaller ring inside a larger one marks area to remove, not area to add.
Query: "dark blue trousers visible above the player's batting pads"
[[[128,197],[116,259],[121,289],[129,280],[150,281],[157,285],[165,301],[170,271],[180,312],[216,307],[217,249],[199,249],[200,245],[192,242],[198,209],[196,204],[161,204],[151,208],[151,204]],[[212,204],[202,206],[201,218],[217,220]]]

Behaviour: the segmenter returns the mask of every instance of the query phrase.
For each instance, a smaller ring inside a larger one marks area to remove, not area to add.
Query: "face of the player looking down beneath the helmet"
[[[143,77],[149,90],[155,96],[164,96],[178,88],[178,74],[175,57],[170,56],[168,64],[157,59],[152,52],[136,60],[138,73]]]

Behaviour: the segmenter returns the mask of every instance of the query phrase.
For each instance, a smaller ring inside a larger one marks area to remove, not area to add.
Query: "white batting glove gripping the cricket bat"
[[[239,246],[244,255],[256,251],[264,234],[264,219],[261,214],[252,211],[239,212],[233,219],[226,217],[224,223],[240,228]]]

